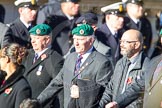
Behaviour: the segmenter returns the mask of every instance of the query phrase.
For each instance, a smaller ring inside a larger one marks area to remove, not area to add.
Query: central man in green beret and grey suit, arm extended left
[[[112,66],[110,60],[94,49],[93,32],[93,28],[88,24],[82,24],[72,30],[76,52],[66,57],[57,77],[38,96],[40,103],[46,103],[63,87],[64,108],[68,107],[70,100],[75,104],[69,105],[69,108],[75,107],[76,104],[80,108],[98,105],[96,99],[100,99],[98,96],[102,95],[99,93],[101,87],[105,87],[110,80]],[[82,87],[79,87],[79,84],[82,84]]]

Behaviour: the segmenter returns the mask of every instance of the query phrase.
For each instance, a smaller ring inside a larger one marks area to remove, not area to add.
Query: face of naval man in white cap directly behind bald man
[[[124,22],[123,17],[116,16],[116,15],[107,15],[106,18],[108,19],[108,23],[110,24],[110,26],[115,31],[123,27],[123,22]]]

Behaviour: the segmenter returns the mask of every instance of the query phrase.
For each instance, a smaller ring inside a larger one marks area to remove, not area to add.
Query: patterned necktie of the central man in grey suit
[[[79,55],[76,61],[76,65],[75,65],[75,75],[79,74],[79,69],[80,69],[80,65],[81,65],[81,60],[82,60],[82,55]],[[78,75],[78,79],[81,78],[81,75]]]

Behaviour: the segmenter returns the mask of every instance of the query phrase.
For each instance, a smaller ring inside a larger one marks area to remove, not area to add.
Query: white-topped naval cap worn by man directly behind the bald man
[[[123,2],[117,2],[110,4],[108,6],[102,7],[101,12],[104,14],[113,14],[117,16],[123,16],[125,15],[125,9],[123,6]]]

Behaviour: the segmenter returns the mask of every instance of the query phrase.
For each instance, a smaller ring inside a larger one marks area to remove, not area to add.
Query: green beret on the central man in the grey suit
[[[93,28],[88,24],[82,24],[80,26],[75,27],[72,30],[72,35],[77,36],[90,36],[94,32]]]

